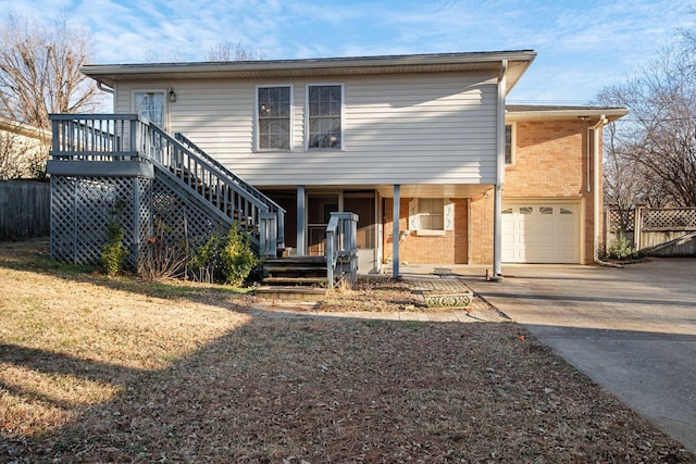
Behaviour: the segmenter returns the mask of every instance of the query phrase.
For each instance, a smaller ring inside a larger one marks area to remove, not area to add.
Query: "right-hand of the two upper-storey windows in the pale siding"
[[[343,148],[343,85],[307,86],[307,147]]]

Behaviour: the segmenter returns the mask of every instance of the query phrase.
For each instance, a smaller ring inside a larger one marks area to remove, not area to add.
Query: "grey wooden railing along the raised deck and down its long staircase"
[[[51,115],[53,163],[151,164],[245,229],[259,254],[284,246],[285,210],[190,142],[170,136],[135,114]]]

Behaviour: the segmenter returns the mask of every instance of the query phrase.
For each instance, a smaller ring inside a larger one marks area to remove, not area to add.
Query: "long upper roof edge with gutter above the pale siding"
[[[113,87],[119,80],[178,78],[287,78],[461,71],[500,72],[507,60],[507,89],[536,58],[533,50],[430,53],[309,60],[262,60],[198,63],[97,64],[86,65],[87,76]]]

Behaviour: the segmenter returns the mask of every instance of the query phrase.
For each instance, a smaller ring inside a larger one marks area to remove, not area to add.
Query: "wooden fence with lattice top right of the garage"
[[[642,254],[696,256],[696,208],[610,208],[606,213],[606,243],[623,233]]]

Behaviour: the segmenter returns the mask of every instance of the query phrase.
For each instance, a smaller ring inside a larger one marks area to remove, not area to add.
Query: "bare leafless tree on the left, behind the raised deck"
[[[79,72],[89,34],[10,14],[0,29],[0,113],[48,128],[51,113],[96,110],[98,90]]]

